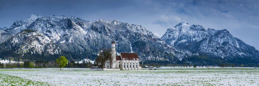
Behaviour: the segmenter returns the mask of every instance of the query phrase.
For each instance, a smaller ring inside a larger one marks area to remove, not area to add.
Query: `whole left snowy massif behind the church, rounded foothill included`
[[[0,50],[6,52],[12,49],[11,53],[18,54],[29,53],[26,49],[31,49],[30,53],[37,52],[36,54],[40,56],[60,54],[79,60],[94,59],[100,48],[111,46],[113,38],[116,40],[117,52],[137,53],[142,61],[173,62],[191,54],[186,49],[175,48],[168,44],[141,25],[118,20],[85,21],[73,16],[31,15],[28,19],[15,21],[10,28],[1,29],[2,32],[15,36],[3,38],[5,36],[3,35],[1,40],[4,41],[1,42],[4,43]],[[35,31],[24,33],[26,29]],[[18,48],[21,46],[22,48]],[[47,48],[42,48],[45,46]]]

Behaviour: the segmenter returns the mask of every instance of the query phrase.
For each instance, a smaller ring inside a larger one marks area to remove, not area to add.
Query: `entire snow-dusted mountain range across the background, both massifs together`
[[[113,38],[117,55],[134,52],[142,62],[177,62],[197,52],[237,63],[259,59],[258,50],[227,30],[205,30],[181,22],[158,38],[141,25],[58,15],[31,15],[10,28],[0,28],[0,58],[52,61],[62,55],[94,60],[100,48],[111,46]]]

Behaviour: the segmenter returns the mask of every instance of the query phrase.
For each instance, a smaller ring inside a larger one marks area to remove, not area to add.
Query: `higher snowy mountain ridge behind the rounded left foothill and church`
[[[91,59],[96,56],[100,48],[110,47],[113,38],[116,40],[117,52],[134,52],[142,60],[173,61],[181,60],[185,55],[191,54],[185,49],[174,48],[167,44],[141,25],[118,20],[85,21],[73,16],[31,15],[28,19],[15,21],[10,28],[3,30],[17,34],[25,29],[42,32],[42,36],[43,34],[46,36],[45,40],[49,38],[62,50],[85,54],[84,56],[89,56]],[[36,48],[38,50],[41,48],[41,46],[35,47],[38,47]]]

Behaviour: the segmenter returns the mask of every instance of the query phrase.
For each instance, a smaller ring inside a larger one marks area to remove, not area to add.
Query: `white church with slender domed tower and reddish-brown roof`
[[[120,56],[116,56],[115,50],[115,41],[111,42],[112,48],[112,56],[115,56],[113,60],[115,62],[110,66],[109,60],[104,64],[104,67],[107,69],[120,69],[120,70],[141,70],[141,66],[139,64],[139,59],[137,53],[125,53],[121,52]]]

